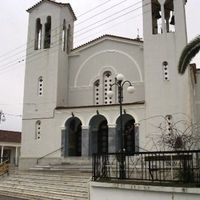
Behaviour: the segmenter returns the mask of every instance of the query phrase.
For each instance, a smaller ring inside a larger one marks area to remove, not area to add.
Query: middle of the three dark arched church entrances
[[[108,153],[108,122],[103,115],[95,115],[89,123],[89,154]]]

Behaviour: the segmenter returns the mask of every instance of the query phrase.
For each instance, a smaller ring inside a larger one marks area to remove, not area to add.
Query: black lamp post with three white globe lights
[[[124,81],[124,75],[123,74],[117,74],[115,78],[115,82],[113,84],[110,84],[110,90],[108,91],[108,97],[113,97],[114,92],[112,91],[112,87],[115,85],[118,89],[118,102],[120,107],[120,136],[121,136],[121,143],[120,143],[120,178],[124,179],[126,178],[125,173],[125,165],[124,165],[124,152],[125,152],[125,146],[124,146],[124,133],[123,133],[123,119],[122,119],[122,103],[123,103],[123,87],[125,84],[129,84],[127,91],[128,93],[133,93],[135,91],[134,86],[132,83],[128,80]]]

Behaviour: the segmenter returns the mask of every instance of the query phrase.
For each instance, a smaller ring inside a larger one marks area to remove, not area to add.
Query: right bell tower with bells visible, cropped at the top
[[[189,73],[181,76],[177,69],[187,42],[185,4],[186,0],[143,1],[146,118],[173,113],[191,118]],[[147,125],[147,132],[152,131]]]

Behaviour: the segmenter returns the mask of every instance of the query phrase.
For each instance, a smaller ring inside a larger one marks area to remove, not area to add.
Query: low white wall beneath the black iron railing
[[[90,200],[199,200],[200,188],[90,183]]]

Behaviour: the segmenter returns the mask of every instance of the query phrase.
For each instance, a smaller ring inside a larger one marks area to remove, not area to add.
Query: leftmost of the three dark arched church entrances
[[[65,123],[65,156],[81,156],[82,123],[79,118],[71,117]]]

